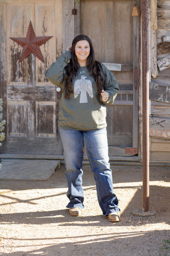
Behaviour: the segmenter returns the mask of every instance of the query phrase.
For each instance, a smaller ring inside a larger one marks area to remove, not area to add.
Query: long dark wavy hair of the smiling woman
[[[80,68],[79,62],[77,61],[77,57],[75,55],[75,45],[82,40],[86,40],[90,45],[90,54],[87,58],[87,69],[90,75],[95,79],[95,82],[97,84],[97,92],[98,92],[97,97],[99,97],[101,91],[103,90],[103,85],[105,83],[105,81],[101,76],[101,71],[103,72],[103,68],[101,67],[100,62],[95,60],[94,47],[92,46],[92,42],[90,38],[86,35],[76,36],[72,42],[72,51],[71,51],[72,57],[71,57],[70,63],[68,63],[68,65],[65,67],[66,74],[64,75],[64,84],[65,84],[64,90],[65,90],[65,98],[68,98],[68,99],[70,99],[70,95],[71,93],[73,93],[72,79],[73,77],[76,76]]]

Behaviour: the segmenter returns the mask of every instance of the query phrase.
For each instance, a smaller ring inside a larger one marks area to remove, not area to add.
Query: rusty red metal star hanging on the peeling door
[[[39,46],[47,42],[53,36],[36,36],[30,21],[26,37],[10,37],[14,42],[23,47],[19,63],[31,53],[44,62]]]

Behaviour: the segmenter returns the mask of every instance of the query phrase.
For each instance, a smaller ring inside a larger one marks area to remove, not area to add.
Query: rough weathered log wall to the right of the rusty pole
[[[150,162],[170,162],[170,0],[150,6]]]

